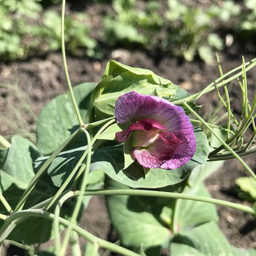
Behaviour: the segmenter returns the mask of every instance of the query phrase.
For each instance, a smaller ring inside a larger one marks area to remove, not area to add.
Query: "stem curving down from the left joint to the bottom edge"
[[[87,132],[86,129],[83,129],[84,133],[86,134],[87,137],[87,145],[88,145],[88,153],[87,153],[87,159],[86,159],[86,164],[82,164],[81,168],[85,168],[84,170],[84,176],[82,177],[82,184],[81,184],[81,191],[78,196],[78,201],[76,202],[76,206],[74,207],[73,214],[71,216],[70,223],[73,224],[76,222],[76,218],[78,217],[79,210],[81,209],[82,206],[82,198],[84,196],[83,191],[86,190],[86,185],[88,181],[88,175],[90,171],[90,161],[92,158],[92,142],[90,141],[90,134]],[[72,225],[69,225],[65,237],[63,239],[63,244],[62,244],[62,252],[60,255],[65,255],[66,252],[66,247],[68,246],[68,241],[70,240],[70,234],[72,231]]]

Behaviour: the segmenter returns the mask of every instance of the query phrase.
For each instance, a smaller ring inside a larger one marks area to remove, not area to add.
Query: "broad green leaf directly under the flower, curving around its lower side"
[[[98,168],[102,169],[114,180],[133,188],[159,188],[182,182],[190,172],[199,164],[206,161],[208,155],[207,138],[200,129],[194,130],[196,136],[196,153],[185,165],[175,170],[151,169],[148,174],[144,174],[143,167],[137,162],[124,168],[124,156],[122,145],[99,148],[95,150],[92,161],[98,162]],[[110,162],[111,166],[105,167],[105,163]],[[102,164],[102,168],[100,165]]]

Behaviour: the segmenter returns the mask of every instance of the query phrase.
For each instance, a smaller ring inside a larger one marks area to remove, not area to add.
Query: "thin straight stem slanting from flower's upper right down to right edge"
[[[214,132],[214,130],[204,121],[204,119],[201,118],[201,116],[199,116],[198,113],[196,113],[196,111],[194,111],[190,105],[188,105],[188,103],[183,102],[184,106],[192,113],[194,114],[194,116],[196,116],[196,118],[198,118],[206,127],[207,129],[210,130],[210,132],[217,138],[217,140],[222,143],[223,146],[225,146],[225,148],[227,150],[230,151],[231,154],[233,154],[233,156],[238,159],[239,162],[241,162],[242,166],[244,166],[244,168],[249,172],[249,174],[254,178],[254,180],[256,181],[256,175],[254,174],[254,172],[252,171],[252,169],[250,169],[250,167],[246,164],[246,162],[244,162],[244,160],[242,160],[242,158],[240,158],[240,156],[234,152],[234,150],[228,146],[228,144],[226,144],[226,142],[224,142],[224,140],[222,140],[222,138],[218,137],[218,135]]]

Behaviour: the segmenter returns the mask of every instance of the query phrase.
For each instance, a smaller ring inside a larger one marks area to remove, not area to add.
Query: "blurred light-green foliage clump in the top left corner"
[[[60,14],[43,10],[36,0],[1,1],[0,55],[4,59],[24,57],[33,51],[59,50]],[[85,51],[86,55],[101,58],[97,42],[89,36],[89,17],[80,12],[65,19],[67,49],[73,54]]]

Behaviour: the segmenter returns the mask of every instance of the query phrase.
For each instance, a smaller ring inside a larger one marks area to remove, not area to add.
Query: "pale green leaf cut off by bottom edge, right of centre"
[[[186,244],[186,247],[183,246],[184,244]],[[193,249],[189,250],[189,247]],[[174,238],[170,244],[172,255],[184,256],[186,254],[182,254],[182,252],[185,252],[185,249],[188,250],[187,255],[191,256],[196,255],[196,251],[198,251],[198,255],[200,256],[234,256],[233,247],[229,244],[215,222],[207,222],[196,226],[196,228]]]

